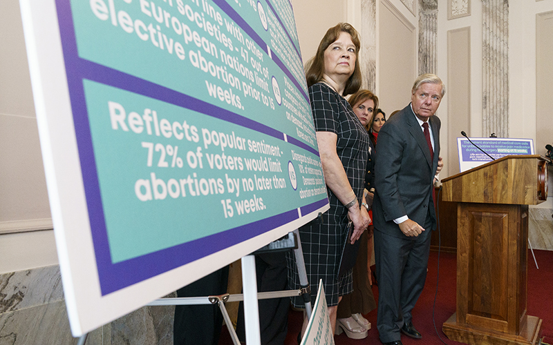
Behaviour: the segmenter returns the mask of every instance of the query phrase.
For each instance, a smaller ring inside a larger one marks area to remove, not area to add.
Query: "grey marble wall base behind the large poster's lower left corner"
[[[89,333],[86,345],[171,345],[173,315],[174,306],[140,308]],[[0,345],[77,342],[69,328],[59,266],[0,275]]]

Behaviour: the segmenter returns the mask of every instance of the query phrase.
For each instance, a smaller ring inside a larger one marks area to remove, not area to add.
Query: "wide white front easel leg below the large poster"
[[[246,344],[261,345],[259,331],[259,305],[257,303],[257,279],[255,270],[255,255],[242,258],[242,289],[244,292],[244,321],[246,328]]]

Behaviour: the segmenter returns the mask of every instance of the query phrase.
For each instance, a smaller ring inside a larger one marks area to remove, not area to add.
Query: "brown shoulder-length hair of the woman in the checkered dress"
[[[347,32],[351,36],[351,41],[355,44],[355,70],[346,82],[346,88],[344,88],[344,95],[350,95],[357,92],[361,88],[362,77],[361,70],[359,69],[359,48],[361,48],[361,41],[359,41],[359,34],[357,30],[351,26],[350,23],[339,23],[326,31],[319,48],[317,48],[317,54],[310,59],[306,64],[306,79],[307,86],[310,87],[314,83],[318,83],[323,79],[324,74],[324,51],[330,44],[334,43],[341,32]]]

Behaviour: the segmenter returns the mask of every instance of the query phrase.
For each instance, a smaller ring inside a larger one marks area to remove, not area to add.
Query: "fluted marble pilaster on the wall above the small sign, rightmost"
[[[482,0],[482,137],[509,137],[509,1]]]

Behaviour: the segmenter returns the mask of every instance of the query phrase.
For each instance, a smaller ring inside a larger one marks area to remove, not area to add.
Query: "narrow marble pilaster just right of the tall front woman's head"
[[[359,66],[363,73],[363,88],[376,89],[376,0],[361,1],[361,50]]]

